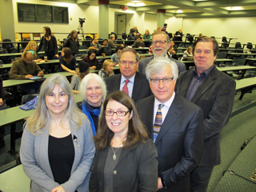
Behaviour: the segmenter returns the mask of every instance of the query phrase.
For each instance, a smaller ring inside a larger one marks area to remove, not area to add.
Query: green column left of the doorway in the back
[[[110,0],[98,0],[98,37],[109,38]],[[113,21],[114,22],[114,21]]]

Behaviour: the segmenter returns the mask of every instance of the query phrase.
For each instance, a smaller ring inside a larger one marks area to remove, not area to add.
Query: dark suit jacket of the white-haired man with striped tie
[[[154,95],[138,101],[137,106],[153,139]],[[202,155],[202,110],[176,94],[154,144],[158,149],[158,177],[167,187],[159,191],[190,191],[190,173]]]

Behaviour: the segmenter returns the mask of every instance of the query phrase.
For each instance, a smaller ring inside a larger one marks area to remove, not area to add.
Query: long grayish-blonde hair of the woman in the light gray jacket
[[[46,95],[50,94],[55,86],[60,86],[64,93],[69,96],[69,102],[61,123],[69,119],[69,121],[74,124],[74,129],[78,130],[80,126],[82,126],[82,120],[86,119],[85,114],[82,114],[82,112],[78,110],[70,82],[68,82],[66,77],[62,74],[53,74],[49,78],[46,78],[46,81],[42,83],[38,98],[38,106],[34,111],[34,114],[26,120],[25,125],[27,125],[31,134],[42,134],[43,131],[46,130],[46,127],[50,127],[51,117],[46,106]]]

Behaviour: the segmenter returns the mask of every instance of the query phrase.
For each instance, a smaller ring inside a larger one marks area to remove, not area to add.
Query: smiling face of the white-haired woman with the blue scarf
[[[91,78],[86,86],[86,99],[90,106],[98,107],[102,105],[102,87],[94,79]]]

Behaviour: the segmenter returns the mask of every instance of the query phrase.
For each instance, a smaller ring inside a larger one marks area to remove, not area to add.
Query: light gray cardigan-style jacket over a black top
[[[70,122],[72,138],[74,141],[74,162],[71,170],[70,179],[62,184],[66,192],[89,191],[90,168],[94,160],[95,146],[93,133],[88,119],[83,122],[79,130],[74,128]],[[30,191],[51,191],[56,186],[54,176],[50,169],[48,158],[49,127],[42,134],[31,134],[27,126],[22,134],[21,160],[23,170],[31,179]]]

